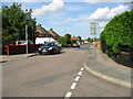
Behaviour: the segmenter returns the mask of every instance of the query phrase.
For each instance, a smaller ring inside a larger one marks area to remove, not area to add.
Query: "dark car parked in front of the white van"
[[[59,44],[58,42],[47,42],[44,43],[44,45],[39,47],[40,55],[57,53],[61,53],[61,44]]]

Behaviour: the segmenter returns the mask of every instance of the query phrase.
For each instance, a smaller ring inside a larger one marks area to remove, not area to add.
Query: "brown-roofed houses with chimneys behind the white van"
[[[53,29],[50,29],[47,31],[44,28],[41,26],[41,24],[37,25],[38,37],[52,37],[54,40],[58,40],[60,35],[53,31]]]

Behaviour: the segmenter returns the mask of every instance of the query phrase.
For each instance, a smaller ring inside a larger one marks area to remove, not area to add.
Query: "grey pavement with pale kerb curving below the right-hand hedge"
[[[133,87],[131,68],[120,65],[109,58],[101,50],[95,50],[93,55],[93,48],[89,50],[89,57],[84,63],[84,68],[105,80],[122,85],[125,87]]]

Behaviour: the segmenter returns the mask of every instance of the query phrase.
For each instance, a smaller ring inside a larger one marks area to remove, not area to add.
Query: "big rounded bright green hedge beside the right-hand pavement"
[[[133,10],[115,15],[101,33],[101,42],[109,54],[117,56],[121,46],[133,48]]]

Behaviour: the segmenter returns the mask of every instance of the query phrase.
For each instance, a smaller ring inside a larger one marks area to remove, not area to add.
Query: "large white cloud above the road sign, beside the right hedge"
[[[88,20],[110,20],[114,15],[120,14],[127,10],[130,10],[129,6],[121,6],[121,4],[113,9],[109,9],[109,7],[99,8],[94,13],[92,13],[88,18]]]

